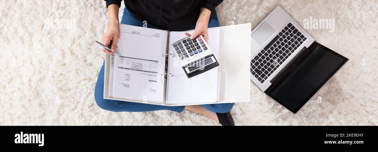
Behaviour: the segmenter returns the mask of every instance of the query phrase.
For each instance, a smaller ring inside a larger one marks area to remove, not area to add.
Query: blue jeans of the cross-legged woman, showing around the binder
[[[134,26],[143,26],[143,22],[134,19],[129,11],[125,8],[121,20],[122,24],[134,25]],[[214,11],[211,13],[208,27],[218,27],[218,17],[217,13]],[[156,26],[149,25],[148,28],[156,28]],[[194,29],[195,23],[191,25],[189,29]],[[147,111],[156,111],[156,110],[171,110],[175,112],[182,112],[185,106],[165,106],[165,105],[153,105],[153,104],[142,104],[128,101],[118,101],[104,99],[104,64],[102,64],[99,76],[97,78],[97,83],[95,87],[95,100],[97,105],[104,109],[112,112],[147,112]],[[225,103],[225,104],[205,104],[201,105],[202,107],[217,113],[226,113],[229,112],[234,103]]]

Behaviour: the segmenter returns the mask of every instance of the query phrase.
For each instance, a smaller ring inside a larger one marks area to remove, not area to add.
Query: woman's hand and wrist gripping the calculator
[[[190,39],[195,39],[197,36],[202,35],[206,43],[208,43],[208,24],[211,11],[207,8],[201,8],[200,17],[198,17],[197,23],[195,25],[194,33],[191,35],[185,33],[186,36],[191,36]],[[209,44],[209,43],[208,43]]]

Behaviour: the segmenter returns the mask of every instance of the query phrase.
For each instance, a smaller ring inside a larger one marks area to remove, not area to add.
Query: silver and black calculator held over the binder
[[[175,56],[188,78],[209,71],[219,65],[201,35],[193,40],[188,36],[173,43],[170,47],[175,52]]]

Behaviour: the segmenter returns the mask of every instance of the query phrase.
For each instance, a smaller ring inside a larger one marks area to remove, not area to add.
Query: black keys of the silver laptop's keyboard
[[[306,37],[289,23],[251,60],[251,74],[260,83],[265,82],[305,40]]]

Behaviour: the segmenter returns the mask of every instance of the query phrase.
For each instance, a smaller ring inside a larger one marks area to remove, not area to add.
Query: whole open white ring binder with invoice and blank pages
[[[104,99],[167,106],[249,101],[251,23],[209,28],[219,66],[190,79],[169,47],[187,31],[120,29],[121,56],[105,54]]]

